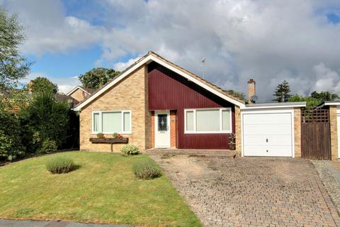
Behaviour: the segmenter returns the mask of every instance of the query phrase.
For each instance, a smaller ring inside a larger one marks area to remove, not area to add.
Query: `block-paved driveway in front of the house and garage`
[[[340,226],[309,160],[150,155],[205,226]]]

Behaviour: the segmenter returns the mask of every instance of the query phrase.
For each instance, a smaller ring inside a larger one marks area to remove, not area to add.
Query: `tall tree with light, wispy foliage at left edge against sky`
[[[23,43],[23,26],[16,14],[8,15],[0,9],[0,93],[18,84],[18,79],[30,72],[30,63],[21,56],[18,46]]]

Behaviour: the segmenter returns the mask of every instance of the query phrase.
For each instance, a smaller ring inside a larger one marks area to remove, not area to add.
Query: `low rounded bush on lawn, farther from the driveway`
[[[49,160],[46,164],[46,170],[52,174],[62,174],[74,170],[75,165],[73,160],[67,157],[55,157]]]

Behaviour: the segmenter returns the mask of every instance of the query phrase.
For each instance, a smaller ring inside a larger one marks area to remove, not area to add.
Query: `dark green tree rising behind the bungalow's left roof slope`
[[[94,68],[79,76],[79,80],[84,87],[98,89],[103,87],[109,80],[117,76],[120,72],[113,69]]]

